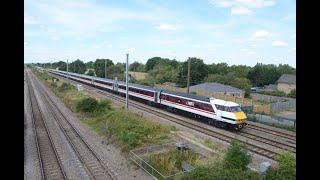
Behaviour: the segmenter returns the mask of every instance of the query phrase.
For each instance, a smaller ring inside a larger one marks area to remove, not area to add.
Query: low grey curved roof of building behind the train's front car
[[[202,83],[194,86],[190,86],[191,91],[203,91],[203,92],[227,92],[227,93],[244,93],[244,90],[223,85],[220,83]]]

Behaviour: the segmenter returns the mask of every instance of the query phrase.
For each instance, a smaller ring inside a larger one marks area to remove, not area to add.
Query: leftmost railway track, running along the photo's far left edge
[[[44,121],[34,90],[28,80],[28,91],[32,110],[32,123],[35,132],[35,141],[42,179],[68,179],[53,144],[52,137]]]

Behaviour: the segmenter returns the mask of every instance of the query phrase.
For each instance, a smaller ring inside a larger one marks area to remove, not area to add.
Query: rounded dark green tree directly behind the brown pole
[[[208,75],[208,67],[203,63],[202,59],[193,57],[190,60],[190,85],[203,82]],[[182,87],[187,86],[188,61],[185,61],[178,68],[178,71],[177,84]]]

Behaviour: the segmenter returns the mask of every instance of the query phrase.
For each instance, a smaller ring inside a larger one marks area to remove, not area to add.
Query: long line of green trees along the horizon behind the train
[[[205,64],[202,59],[190,58],[190,85],[202,82],[219,82],[244,89],[248,95],[252,86],[264,86],[274,84],[282,74],[295,74],[295,68],[288,64],[262,64],[257,63],[254,67],[245,65],[232,65],[227,63]],[[105,64],[106,63],[106,64]],[[66,62],[36,64],[42,67],[59,68],[67,70]],[[89,75],[105,77],[105,66],[107,78],[119,80],[125,78],[125,63],[114,64],[110,59],[96,59],[84,63],[77,59],[69,64],[69,71],[83,74],[88,69]],[[155,83],[172,82],[179,87],[187,86],[188,61],[180,62],[175,59],[153,57],[147,60],[146,64],[133,62],[129,66],[129,71],[147,72],[146,80],[138,83],[153,85]],[[137,82],[133,79],[134,82]]]

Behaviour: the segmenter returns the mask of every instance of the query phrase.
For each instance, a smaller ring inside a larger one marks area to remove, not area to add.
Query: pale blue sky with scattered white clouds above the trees
[[[296,67],[295,0],[25,0],[25,63],[145,63]]]

